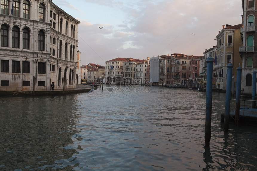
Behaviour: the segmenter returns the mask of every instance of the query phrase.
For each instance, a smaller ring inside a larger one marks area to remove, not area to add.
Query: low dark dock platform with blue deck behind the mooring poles
[[[224,123],[224,113],[221,114],[221,123]],[[235,111],[230,112],[229,123],[235,124]],[[238,124],[257,126],[257,109],[240,107]]]

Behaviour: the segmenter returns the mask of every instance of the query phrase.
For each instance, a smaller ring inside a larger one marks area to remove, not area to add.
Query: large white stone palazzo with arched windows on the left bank
[[[1,1],[0,90],[75,88],[78,24],[52,1]]]

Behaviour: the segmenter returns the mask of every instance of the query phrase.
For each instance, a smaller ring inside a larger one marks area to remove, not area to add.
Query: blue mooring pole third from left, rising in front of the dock
[[[236,95],[235,95],[235,124],[238,126],[238,119],[240,114],[240,95],[241,95],[241,78],[242,78],[242,68],[236,68]]]

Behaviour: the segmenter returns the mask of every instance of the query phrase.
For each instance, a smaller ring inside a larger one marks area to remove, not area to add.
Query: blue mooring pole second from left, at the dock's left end
[[[233,71],[233,65],[228,64],[227,65],[227,87],[226,87],[226,100],[225,100],[224,132],[228,132],[228,129],[229,129],[232,71]]]

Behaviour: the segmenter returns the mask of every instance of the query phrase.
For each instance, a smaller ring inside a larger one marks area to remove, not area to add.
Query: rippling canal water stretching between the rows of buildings
[[[105,85],[1,97],[0,170],[256,170],[256,127],[230,125],[224,134],[225,93],[213,92],[204,148],[205,101],[197,90]]]

